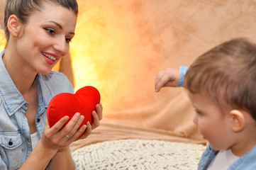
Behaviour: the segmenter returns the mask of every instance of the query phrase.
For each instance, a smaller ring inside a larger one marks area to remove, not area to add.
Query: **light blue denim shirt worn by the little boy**
[[[179,86],[183,86],[184,77],[189,67],[179,67]],[[204,153],[199,161],[198,170],[208,169],[209,164],[213,161],[214,157],[218,154],[217,150],[214,150],[211,145],[208,145],[204,150]],[[231,164],[228,170],[255,170],[256,169],[256,145],[250,149],[249,152],[240,157],[236,162]]]

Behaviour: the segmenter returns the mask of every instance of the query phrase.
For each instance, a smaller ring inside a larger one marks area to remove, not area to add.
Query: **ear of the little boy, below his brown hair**
[[[240,132],[245,128],[245,116],[241,111],[232,110],[229,113],[230,115],[230,125],[233,132]]]

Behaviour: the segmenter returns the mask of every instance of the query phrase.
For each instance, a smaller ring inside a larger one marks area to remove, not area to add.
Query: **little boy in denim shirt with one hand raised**
[[[157,74],[156,91],[182,84],[176,71]],[[187,70],[184,88],[196,109],[193,121],[209,142],[199,169],[256,169],[255,84],[256,45],[244,38],[214,47]]]

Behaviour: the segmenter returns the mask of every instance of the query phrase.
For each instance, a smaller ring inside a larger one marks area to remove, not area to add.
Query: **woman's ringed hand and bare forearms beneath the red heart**
[[[35,146],[26,162],[20,169],[45,169],[50,160],[52,160],[50,169],[74,169],[74,162],[69,152],[69,145],[77,140],[79,135],[84,132],[87,125],[82,125],[84,115],[74,114],[69,120],[68,116],[61,118],[55,125],[50,128],[48,120],[45,122],[43,135],[38,145]],[[65,125],[64,128],[62,126]],[[60,163],[60,162],[65,163]],[[35,164],[36,162],[36,164]]]

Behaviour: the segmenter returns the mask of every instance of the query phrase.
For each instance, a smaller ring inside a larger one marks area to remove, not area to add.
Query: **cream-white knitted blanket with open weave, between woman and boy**
[[[82,147],[72,157],[79,170],[193,170],[205,148],[160,140],[116,140]]]

